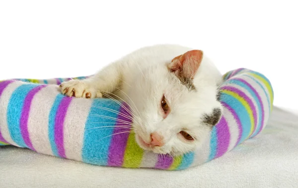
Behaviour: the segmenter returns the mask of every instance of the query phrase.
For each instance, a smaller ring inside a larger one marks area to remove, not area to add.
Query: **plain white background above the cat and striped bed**
[[[222,73],[245,67],[297,109],[297,0],[1,0],[0,80],[75,77],[147,45],[201,49]]]

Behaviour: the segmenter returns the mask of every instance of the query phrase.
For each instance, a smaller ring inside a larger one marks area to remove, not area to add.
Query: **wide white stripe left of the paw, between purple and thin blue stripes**
[[[28,132],[33,147],[39,153],[53,155],[49,140],[49,115],[56,96],[57,85],[48,85],[35,94],[28,118]]]

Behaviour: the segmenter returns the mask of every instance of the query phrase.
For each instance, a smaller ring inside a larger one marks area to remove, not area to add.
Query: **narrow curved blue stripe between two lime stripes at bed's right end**
[[[257,127],[255,128],[254,133],[259,132],[259,130],[261,128],[261,125],[262,125],[262,115],[263,114],[262,114],[261,103],[258,100],[257,95],[255,94],[255,92],[252,89],[250,89],[246,84],[244,84],[243,82],[241,82],[239,80],[233,80],[233,79],[231,79],[231,80],[228,80],[227,83],[236,84],[236,85],[239,85],[240,87],[246,89],[251,94],[251,96],[253,97],[254,101],[257,103],[257,106],[258,106],[258,114],[257,114],[257,116],[258,116],[258,124],[257,124]]]

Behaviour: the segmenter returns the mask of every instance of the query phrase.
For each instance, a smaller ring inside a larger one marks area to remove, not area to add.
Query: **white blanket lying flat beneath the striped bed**
[[[184,171],[100,167],[0,147],[0,188],[298,188],[298,115],[274,108],[263,132]]]

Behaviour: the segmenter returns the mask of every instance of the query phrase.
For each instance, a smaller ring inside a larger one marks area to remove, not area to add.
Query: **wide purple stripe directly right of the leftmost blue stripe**
[[[25,100],[24,100],[24,105],[21,113],[21,119],[20,119],[20,129],[21,129],[21,134],[24,139],[25,144],[35,151],[32,142],[30,140],[30,135],[28,132],[28,118],[29,118],[29,113],[30,113],[30,108],[31,108],[31,103],[33,100],[34,95],[40,91],[42,88],[44,88],[46,85],[40,85],[35,88],[33,88],[29,93],[27,94]]]

